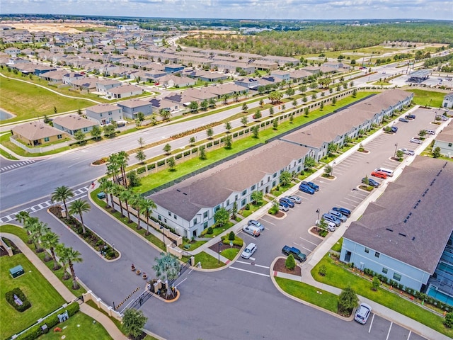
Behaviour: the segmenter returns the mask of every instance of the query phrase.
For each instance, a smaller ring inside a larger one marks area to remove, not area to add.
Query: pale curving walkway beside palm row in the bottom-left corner
[[[27,256],[28,260],[42,273],[42,276],[46,278],[47,281],[50,282],[52,286],[55,287],[59,295],[62,295],[64,300],[67,302],[72,302],[76,300],[76,295],[71,293],[63,283],[60,281],[57,276],[43,263],[38,256],[31,250],[23,241],[16,236],[15,234],[9,234],[6,232],[0,232],[0,237],[5,237],[6,239],[11,239],[11,241],[16,244],[18,249],[22,251],[22,253]],[[87,314],[89,317],[92,317],[97,322],[103,325],[108,334],[115,340],[127,340],[127,336],[121,333],[119,329],[117,329],[116,325],[113,323],[112,320],[109,319],[105,314],[96,310],[95,308],[87,305],[86,303],[81,303],[80,310],[84,314]]]

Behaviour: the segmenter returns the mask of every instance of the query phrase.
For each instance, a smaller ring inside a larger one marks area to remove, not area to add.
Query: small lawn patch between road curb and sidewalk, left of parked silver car
[[[287,278],[275,278],[275,282],[277,282],[277,285],[279,285],[282,290],[285,290],[286,293],[297,297],[300,300],[310,302],[313,305],[322,307],[325,310],[330,310],[334,313],[338,310],[338,297],[333,293]]]

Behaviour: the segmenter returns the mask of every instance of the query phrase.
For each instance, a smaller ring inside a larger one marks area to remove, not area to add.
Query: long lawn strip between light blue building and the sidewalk
[[[318,268],[321,265],[326,266],[326,276],[320,276],[318,273]],[[378,288],[377,291],[373,291],[371,289],[371,281],[357,276],[354,273],[350,273],[344,268],[336,265],[336,263],[333,262],[333,259],[331,259],[328,255],[324,256],[323,259],[316,264],[316,266],[311,270],[311,275],[313,275],[315,280],[328,285],[333,285],[334,287],[341,289],[351,287],[357,292],[357,294],[367,297],[368,299],[384,305],[391,310],[406,315],[406,317],[411,317],[421,324],[425,324],[426,326],[453,338],[453,329],[447,329],[444,326],[442,323],[444,319],[442,317],[382,288]]]

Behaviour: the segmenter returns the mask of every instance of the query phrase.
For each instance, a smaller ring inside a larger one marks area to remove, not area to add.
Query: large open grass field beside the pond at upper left
[[[1,108],[16,115],[4,123],[52,115],[54,106],[61,113],[95,105],[91,101],[59,96],[40,86],[3,77],[0,77],[0,89]]]

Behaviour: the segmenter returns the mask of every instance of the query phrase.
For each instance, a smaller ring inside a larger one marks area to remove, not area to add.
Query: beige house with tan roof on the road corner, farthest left
[[[32,147],[49,142],[57,142],[58,140],[69,137],[66,133],[40,122],[29,122],[18,125],[11,131],[13,132],[13,138],[21,140]]]

